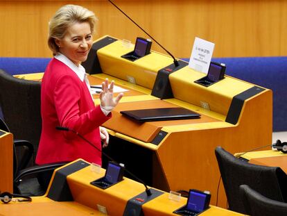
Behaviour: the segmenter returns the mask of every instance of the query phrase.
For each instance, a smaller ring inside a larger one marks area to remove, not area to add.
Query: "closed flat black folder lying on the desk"
[[[135,119],[138,122],[154,122],[154,121],[200,118],[200,114],[181,107],[124,110],[121,111],[120,113],[125,115],[126,117]]]

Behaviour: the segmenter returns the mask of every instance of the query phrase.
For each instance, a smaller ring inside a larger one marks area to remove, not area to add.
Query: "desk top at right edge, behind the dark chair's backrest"
[[[287,155],[277,150],[247,152],[241,158],[249,160],[249,163],[269,167],[281,167],[287,174]]]

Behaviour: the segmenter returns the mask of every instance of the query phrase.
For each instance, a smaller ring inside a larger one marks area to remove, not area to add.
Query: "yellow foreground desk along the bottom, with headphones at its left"
[[[110,188],[102,190],[90,184],[97,178],[101,178],[105,174],[105,169],[100,172],[93,172],[92,166],[87,163],[87,166],[72,172],[67,176],[67,184],[73,197],[73,201],[55,201],[51,199],[51,191],[53,191],[53,181],[55,181],[56,172],[61,169],[74,169],[79,163],[85,163],[83,160],[76,160],[69,163],[56,171],[53,174],[51,183],[46,194],[43,197],[32,197],[31,203],[8,203],[0,202],[0,215],[103,215],[97,209],[97,204],[104,206],[108,215],[123,215],[123,210],[129,199],[137,196],[145,190],[141,183],[132,181],[129,178],[124,178],[123,181],[112,185]],[[72,168],[71,168],[72,167]],[[60,185],[60,188],[63,185]],[[50,198],[49,198],[50,197]],[[142,206],[144,215],[175,215],[173,210],[184,206],[186,198],[182,197],[180,201],[168,199],[168,193],[163,192],[159,197],[144,203]],[[223,208],[211,206],[202,215],[226,215],[236,216],[241,215]]]

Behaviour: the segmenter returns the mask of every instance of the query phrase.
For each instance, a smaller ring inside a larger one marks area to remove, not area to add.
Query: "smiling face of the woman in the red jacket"
[[[88,22],[75,23],[67,28],[64,38],[55,40],[60,53],[67,56],[75,65],[87,60],[93,37]]]

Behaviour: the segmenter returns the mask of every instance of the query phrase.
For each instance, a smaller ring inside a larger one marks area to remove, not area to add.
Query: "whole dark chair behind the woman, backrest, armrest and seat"
[[[38,182],[38,174],[47,176],[49,181],[53,169],[66,164],[34,166],[42,130],[40,103],[40,81],[15,78],[0,69],[0,106],[6,126],[9,127],[6,130],[13,134],[14,139],[21,139],[21,143],[27,140],[26,143],[31,142],[33,145],[33,148],[24,147],[14,142],[14,192],[28,196],[41,195],[46,191],[46,185]],[[27,149],[34,149],[33,157],[29,156]],[[26,160],[30,160],[28,165]]]

